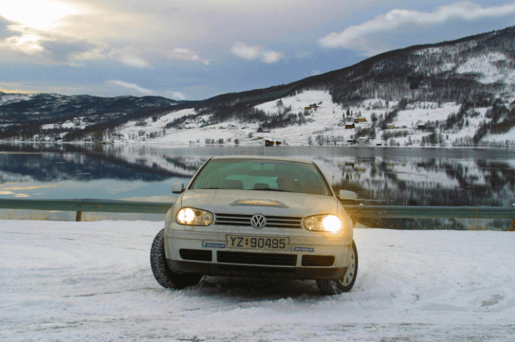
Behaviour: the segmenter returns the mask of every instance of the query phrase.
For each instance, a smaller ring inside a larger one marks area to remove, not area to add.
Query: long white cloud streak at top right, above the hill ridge
[[[351,26],[342,32],[332,32],[318,42],[323,46],[344,47],[358,51],[381,50],[383,34],[389,34],[403,25],[436,25],[450,20],[478,20],[501,17],[515,13],[515,4],[481,8],[471,2],[458,2],[436,8],[432,13],[395,9],[361,25]],[[388,48],[388,47],[384,47]]]

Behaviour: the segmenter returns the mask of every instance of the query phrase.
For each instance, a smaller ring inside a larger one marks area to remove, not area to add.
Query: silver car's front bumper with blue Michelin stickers
[[[347,239],[292,236],[282,231],[282,236],[289,237],[289,250],[279,251],[227,248],[226,234],[169,230],[164,244],[170,270],[232,277],[338,279],[350,262],[351,241]],[[277,232],[261,234],[278,236]]]

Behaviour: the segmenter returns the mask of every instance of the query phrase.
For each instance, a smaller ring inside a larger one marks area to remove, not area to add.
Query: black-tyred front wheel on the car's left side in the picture
[[[168,268],[167,257],[164,254],[164,229],[157,233],[154,242],[152,242],[150,266],[159,285],[167,289],[183,289],[193,286],[200,282],[202,278],[202,275],[179,274]]]

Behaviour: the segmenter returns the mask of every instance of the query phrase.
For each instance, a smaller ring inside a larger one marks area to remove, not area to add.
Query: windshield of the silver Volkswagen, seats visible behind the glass
[[[314,164],[266,159],[211,159],[190,189],[301,192],[332,196]]]

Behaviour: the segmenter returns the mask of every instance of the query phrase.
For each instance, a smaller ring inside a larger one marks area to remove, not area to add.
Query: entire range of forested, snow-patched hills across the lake
[[[508,27],[201,101],[0,94],[0,138],[505,147],[515,140],[514,55]]]

